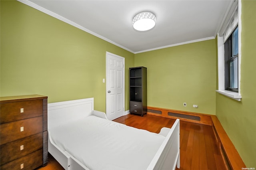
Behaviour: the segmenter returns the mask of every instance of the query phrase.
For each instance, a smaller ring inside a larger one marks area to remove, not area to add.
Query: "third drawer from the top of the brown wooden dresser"
[[[43,148],[43,133],[1,145],[1,165]]]

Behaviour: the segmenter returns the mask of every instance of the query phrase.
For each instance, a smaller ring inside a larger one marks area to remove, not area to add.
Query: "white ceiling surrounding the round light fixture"
[[[234,0],[20,0],[133,53],[209,40]],[[143,11],[156,16],[147,32],[132,28]]]

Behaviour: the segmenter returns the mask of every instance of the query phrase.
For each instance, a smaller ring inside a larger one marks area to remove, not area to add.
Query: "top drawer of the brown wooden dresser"
[[[38,117],[43,114],[43,100],[1,103],[0,112],[1,124]]]

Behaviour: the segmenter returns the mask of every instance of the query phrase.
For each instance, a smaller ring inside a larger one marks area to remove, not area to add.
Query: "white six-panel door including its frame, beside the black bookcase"
[[[124,57],[106,53],[106,116],[124,116]]]

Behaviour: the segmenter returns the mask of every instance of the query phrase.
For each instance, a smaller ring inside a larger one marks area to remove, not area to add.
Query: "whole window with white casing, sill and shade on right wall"
[[[231,2],[231,8],[218,30],[218,89],[216,92],[241,101],[241,1]]]

